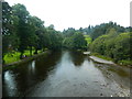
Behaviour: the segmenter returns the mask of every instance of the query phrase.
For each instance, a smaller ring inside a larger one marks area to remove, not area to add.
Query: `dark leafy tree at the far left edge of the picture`
[[[19,38],[16,36],[16,25],[18,18],[12,14],[12,8],[8,2],[2,2],[2,57],[9,50],[11,52],[18,48]]]

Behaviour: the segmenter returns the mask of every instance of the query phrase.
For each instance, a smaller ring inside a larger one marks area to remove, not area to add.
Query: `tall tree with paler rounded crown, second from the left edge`
[[[21,52],[20,58],[22,58],[24,50],[28,47],[28,38],[30,37],[28,32],[28,18],[30,13],[26,11],[26,8],[20,3],[13,6],[12,9],[14,15],[19,18],[18,36],[20,38],[20,45],[18,50]]]

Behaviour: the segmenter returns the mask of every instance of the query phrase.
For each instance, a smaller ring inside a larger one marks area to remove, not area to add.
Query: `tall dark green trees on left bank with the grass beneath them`
[[[22,58],[23,55],[37,54],[40,53],[38,50],[59,50],[62,47],[63,35],[54,30],[53,24],[45,28],[44,21],[30,15],[23,4],[18,3],[10,7],[8,2],[3,2],[2,6],[2,36],[4,41],[2,55],[6,56],[3,58],[6,63],[18,61],[19,55]],[[26,53],[26,50],[30,52]],[[7,54],[12,51],[19,51],[19,54],[9,61]]]

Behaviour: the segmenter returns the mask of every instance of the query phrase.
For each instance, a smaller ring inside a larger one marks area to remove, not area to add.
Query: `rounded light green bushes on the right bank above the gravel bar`
[[[90,45],[90,51],[111,57],[114,62],[130,59],[130,33],[117,34],[111,29],[108,35],[97,37]]]

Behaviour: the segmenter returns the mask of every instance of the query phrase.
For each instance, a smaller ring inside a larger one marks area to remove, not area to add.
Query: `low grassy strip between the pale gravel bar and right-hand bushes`
[[[97,57],[106,59],[106,61],[112,61],[116,63],[116,61],[113,58],[100,55],[98,53],[91,53],[90,55],[97,56]],[[118,61],[116,64],[123,65],[123,66],[132,66],[132,61]]]

